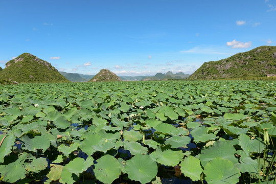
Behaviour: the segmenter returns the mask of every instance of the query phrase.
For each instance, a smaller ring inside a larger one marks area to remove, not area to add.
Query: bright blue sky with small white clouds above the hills
[[[1,0],[0,66],[27,52],[71,73],[192,74],[275,33],[275,0]]]

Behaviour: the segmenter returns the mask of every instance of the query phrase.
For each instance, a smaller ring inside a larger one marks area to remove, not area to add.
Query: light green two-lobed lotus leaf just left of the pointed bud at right
[[[260,153],[265,148],[265,145],[261,140],[257,138],[250,139],[250,137],[246,134],[240,134],[238,139],[239,145],[247,155],[250,155],[252,152]]]

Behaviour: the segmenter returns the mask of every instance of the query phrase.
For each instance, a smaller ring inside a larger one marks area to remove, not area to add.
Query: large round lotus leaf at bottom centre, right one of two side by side
[[[157,164],[149,155],[137,154],[130,160],[127,160],[125,171],[129,179],[145,184],[156,176]]]

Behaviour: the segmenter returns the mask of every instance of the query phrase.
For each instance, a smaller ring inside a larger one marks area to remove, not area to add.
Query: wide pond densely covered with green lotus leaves
[[[276,183],[274,83],[2,85],[0,180]]]

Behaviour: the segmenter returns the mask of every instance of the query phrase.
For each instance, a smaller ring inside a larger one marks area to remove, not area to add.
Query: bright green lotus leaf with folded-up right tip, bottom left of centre
[[[93,165],[93,157],[88,156],[86,160],[77,157],[73,159],[70,163],[64,166],[69,172],[79,175],[83,171],[86,171],[91,165]]]

